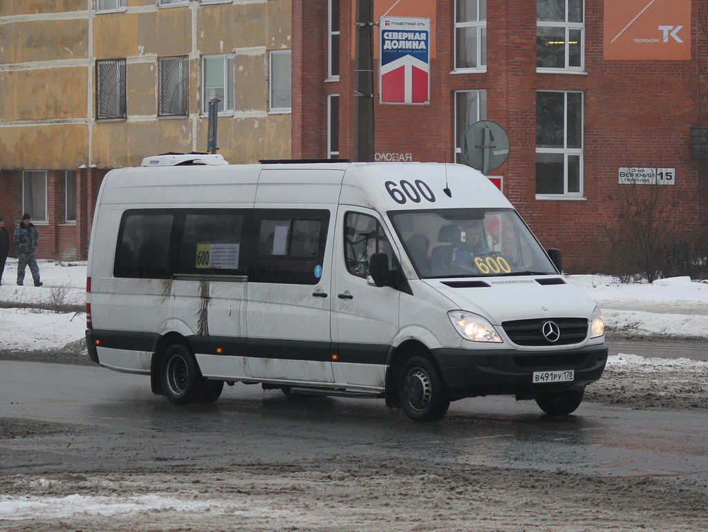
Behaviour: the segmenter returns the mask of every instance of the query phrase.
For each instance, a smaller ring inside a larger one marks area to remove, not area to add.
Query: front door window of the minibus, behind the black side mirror
[[[369,273],[369,258],[374,253],[386,253],[389,268],[392,267],[391,245],[377,219],[368,214],[347,213],[344,254],[349,273],[365,278]]]

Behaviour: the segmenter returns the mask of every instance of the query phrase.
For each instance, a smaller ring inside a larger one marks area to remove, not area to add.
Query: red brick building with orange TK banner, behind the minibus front
[[[617,251],[606,228],[622,221],[629,190],[675,204],[672,223],[703,238],[705,142],[692,151],[691,138],[708,125],[707,7],[373,0],[373,21],[430,18],[429,103],[379,103],[375,61],[373,158],[462,162],[462,132],[493,120],[511,149],[491,174],[544,246],[563,250],[566,271],[607,271]],[[353,158],[354,13],[355,0],[292,1],[295,157]],[[639,184],[649,182],[661,184]]]

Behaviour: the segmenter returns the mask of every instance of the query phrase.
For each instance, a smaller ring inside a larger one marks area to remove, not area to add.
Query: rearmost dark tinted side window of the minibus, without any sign
[[[173,213],[127,211],[115,250],[115,277],[169,279]]]

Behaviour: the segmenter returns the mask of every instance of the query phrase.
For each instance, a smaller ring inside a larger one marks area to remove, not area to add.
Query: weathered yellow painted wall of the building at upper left
[[[0,2],[0,168],[115,168],[205,151],[210,54],[234,56],[234,110],[219,116],[219,153],[234,163],[290,156],[290,114],[268,112],[268,52],[290,49],[290,0],[158,4],[96,12],[96,0]],[[158,117],[159,58],[176,56],[189,60],[188,115]],[[105,59],[126,61],[125,119],[96,119],[95,65]]]

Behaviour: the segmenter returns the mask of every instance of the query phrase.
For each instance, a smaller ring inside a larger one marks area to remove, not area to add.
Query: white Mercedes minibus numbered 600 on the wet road
[[[566,415],[607,362],[559,251],[456,164],[149,157],[103,180],[86,284],[91,360],[176,404],[241,382],[418,421],[481,395]]]

